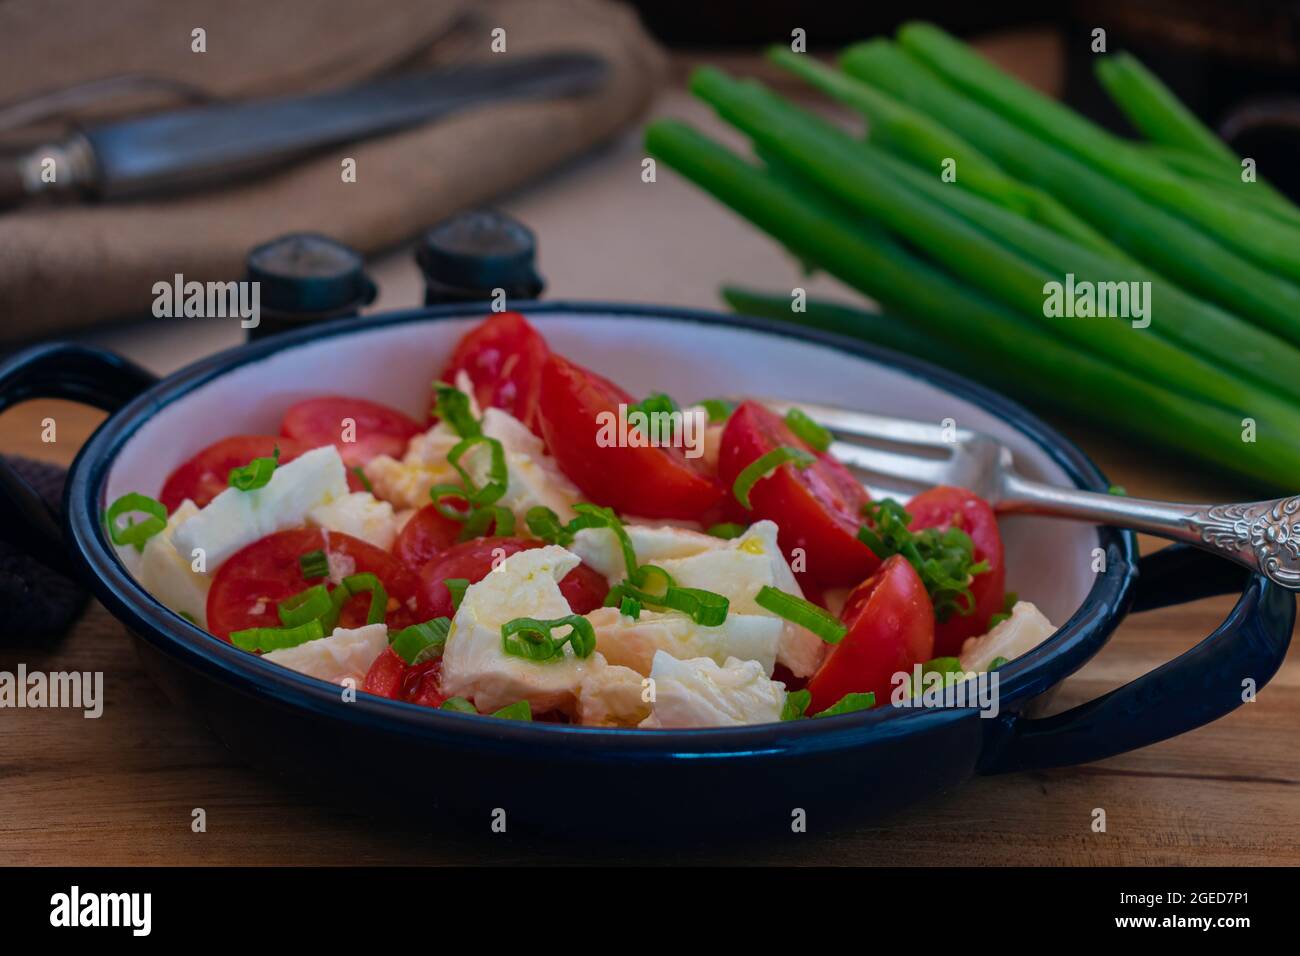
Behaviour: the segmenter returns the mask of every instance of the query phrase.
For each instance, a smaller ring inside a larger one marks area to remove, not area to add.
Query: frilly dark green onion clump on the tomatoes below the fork
[[[935,618],[942,623],[954,613],[966,618],[975,613],[971,579],[988,571],[988,562],[975,561],[975,544],[961,528],[926,528],[913,532],[911,515],[893,498],[868,502],[863,511],[867,524],[858,529],[858,540],[884,561],[904,555],[920,575]]]

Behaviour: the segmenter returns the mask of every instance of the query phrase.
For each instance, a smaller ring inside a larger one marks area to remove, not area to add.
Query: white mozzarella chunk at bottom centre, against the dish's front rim
[[[781,719],[785,684],[771,680],[757,661],[679,661],[664,652],[650,669],[654,704],[641,727],[727,727]]]

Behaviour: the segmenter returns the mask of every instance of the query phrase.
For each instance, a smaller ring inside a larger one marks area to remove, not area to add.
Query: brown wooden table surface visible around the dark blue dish
[[[1009,49],[1019,64],[1043,44]],[[1048,49],[1050,53],[1050,49]],[[1050,86],[1049,83],[1044,83]],[[659,112],[707,124],[698,107],[670,92]],[[594,159],[511,198],[506,208],[542,235],[542,268],[555,297],[671,300],[716,307],[720,280],[770,289],[800,274],[771,243],[689,187],[660,177],[658,193],[629,187],[641,151],[628,137]],[[634,179],[633,179],[634,181]],[[581,195],[585,202],[573,202]],[[653,195],[653,198],[651,198]],[[606,230],[636,221],[640,229]],[[636,217],[636,219],[628,219]],[[689,217],[690,228],[684,222]],[[663,229],[656,229],[655,224]],[[672,242],[663,237],[671,224]],[[601,259],[603,256],[603,260]],[[647,265],[647,263],[650,265]],[[407,254],[376,267],[380,306],[417,299]],[[611,285],[614,284],[614,285]],[[816,294],[848,298],[826,278]],[[620,291],[621,290],[621,291]],[[204,320],[207,321],[207,320]],[[216,325],[104,333],[157,371],[169,371],[238,332]],[[40,441],[53,416],[58,441]],[[0,449],[68,463],[100,420],[65,402],[32,402],[0,415]],[[1057,423],[1131,494],[1184,501],[1252,497],[1230,481],[1197,477],[1141,446]],[[1144,541],[1144,550],[1154,542]],[[1096,697],[1178,656],[1231,606],[1228,598],[1130,618],[1110,644],[1061,687],[1054,709]],[[101,670],[98,721],[74,710],[0,710],[0,865],[10,864],[489,864],[628,860],[656,851],[519,836],[412,834],[304,801],[240,766],[205,731],[183,719],[140,670],[133,639],[98,604],[49,652],[4,649],[0,670]],[[1201,730],[1098,763],[980,778],[871,827],[746,844],[673,847],[666,862],[777,864],[1300,864],[1300,652],[1256,702]],[[191,812],[207,812],[207,832]],[[1106,810],[1106,832],[1091,829]]]

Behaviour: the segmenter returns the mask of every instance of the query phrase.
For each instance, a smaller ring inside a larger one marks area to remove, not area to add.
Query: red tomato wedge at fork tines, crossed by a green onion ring
[[[807,468],[783,464],[760,479],[749,493],[749,519],[767,518],[780,528],[781,549],[798,568],[794,549],[802,549],[803,568],[823,587],[857,584],[880,561],[858,540],[862,506],[871,496],[842,464],[809,447],[780,416],[757,402],[744,402],[723,431],[718,475],[728,494],[740,473],[768,451],[789,445],[812,454]]]

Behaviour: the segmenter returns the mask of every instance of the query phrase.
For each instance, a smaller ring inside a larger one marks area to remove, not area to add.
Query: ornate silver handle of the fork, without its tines
[[[1004,473],[998,511],[1114,524],[1216,551],[1300,591],[1300,496],[1242,505],[1178,505],[1097,494]]]

